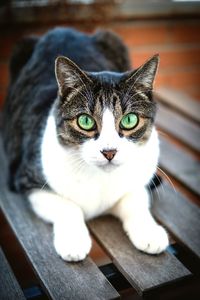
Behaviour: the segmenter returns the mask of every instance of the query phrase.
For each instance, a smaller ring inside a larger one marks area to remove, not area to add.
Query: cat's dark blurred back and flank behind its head
[[[63,28],[56,28],[42,38],[26,38],[15,52],[4,107],[3,133],[10,162],[11,185],[21,192],[40,188],[46,182],[38,162],[38,151],[45,116],[49,114],[58,93],[54,72],[57,56],[65,55],[83,70],[94,72],[123,72],[129,68],[129,61],[125,47],[110,33],[99,32],[90,37]],[[118,53],[120,58],[117,59]]]

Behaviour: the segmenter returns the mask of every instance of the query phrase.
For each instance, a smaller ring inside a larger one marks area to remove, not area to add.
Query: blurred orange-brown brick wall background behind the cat
[[[16,42],[55,26],[89,33],[97,28],[113,30],[128,46],[134,67],[159,53],[156,89],[179,90],[200,100],[200,1],[1,0],[0,106]]]

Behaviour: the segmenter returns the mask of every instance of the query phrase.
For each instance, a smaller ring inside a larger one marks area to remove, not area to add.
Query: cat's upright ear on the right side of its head
[[[126,83],[132,84],[134,88],[152,90],[159,61],[159,55],[154,55],[137,70],[129,72]]]

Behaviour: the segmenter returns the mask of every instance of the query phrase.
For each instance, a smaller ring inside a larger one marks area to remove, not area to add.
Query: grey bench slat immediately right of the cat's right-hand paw
[[[155,216],[200,258],[200,208],[165,181],[154,192],[153,204]]]

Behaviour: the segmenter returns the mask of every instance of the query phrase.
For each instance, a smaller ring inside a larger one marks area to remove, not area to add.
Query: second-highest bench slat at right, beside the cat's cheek
[[[156,124],[196,151],[200,151],[200,127],[161,103],[158,105]]]

